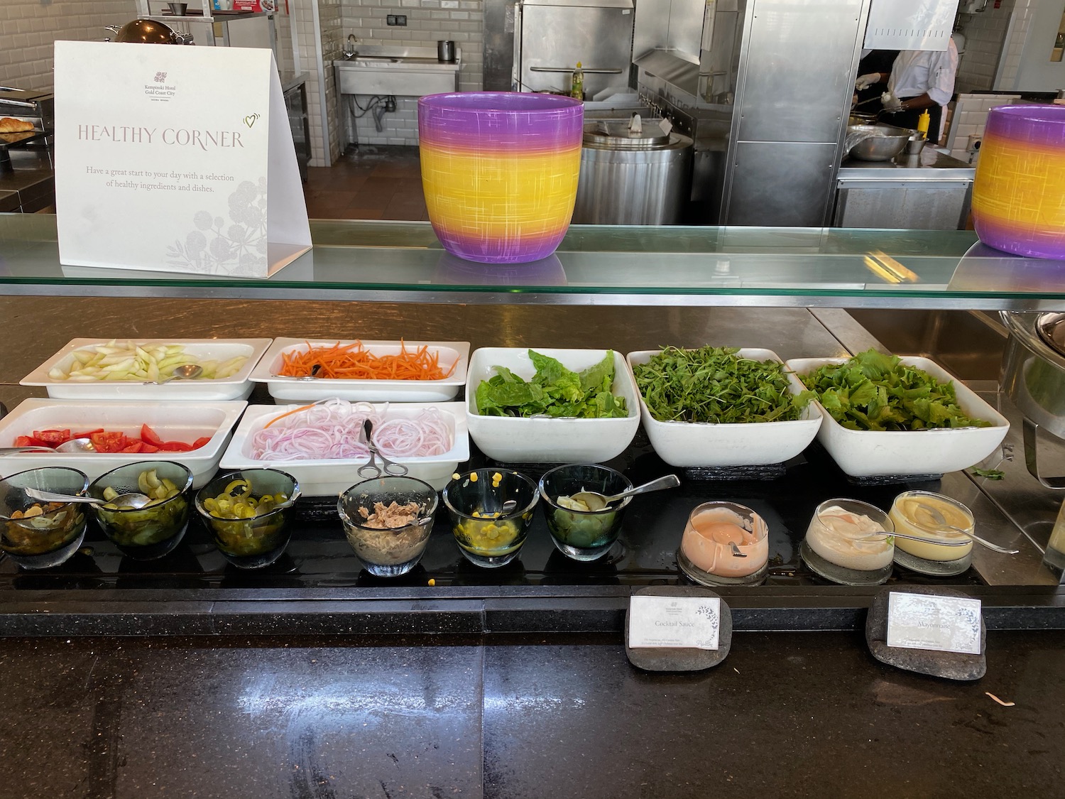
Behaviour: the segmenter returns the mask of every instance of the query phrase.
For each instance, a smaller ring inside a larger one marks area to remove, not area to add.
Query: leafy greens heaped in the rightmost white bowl
[[[987,427],[957,405],[953,384],[874,349],[800,376],[832,418],[852,430]]]

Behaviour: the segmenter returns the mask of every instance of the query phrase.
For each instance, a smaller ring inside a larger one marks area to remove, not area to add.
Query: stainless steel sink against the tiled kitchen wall
[[[437,60],[431,47],[360,46],[333,62],[342,95],[421,97],[458,91],[461,54],[455,62]]]

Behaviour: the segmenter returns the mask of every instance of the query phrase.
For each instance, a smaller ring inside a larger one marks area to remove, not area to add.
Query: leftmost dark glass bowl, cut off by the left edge
[[[26,489],[81,494],[87,487],[84,472],[65,467],[30,469],[0,479],[0,550],[23,569],[62,564],[85,537],[85,509],[75,502],[32,500]]]

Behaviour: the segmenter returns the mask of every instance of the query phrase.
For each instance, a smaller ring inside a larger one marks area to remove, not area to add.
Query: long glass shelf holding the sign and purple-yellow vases
[[[66,266],[55,217],[0,214],[0,293],[422,303],[1065,310],[1065,262],[965,230],[570,228],[515,265],[445,252],[428,223],[312,221],[314,248],[265,280]]]

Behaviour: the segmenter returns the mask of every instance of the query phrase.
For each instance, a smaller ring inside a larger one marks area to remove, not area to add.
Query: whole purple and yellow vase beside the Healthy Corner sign
[[[525,263],[554,252],[573,216],[583,128],[584,104],[569,97],[422,97],[422,187],[444,249],[481,263]]]

